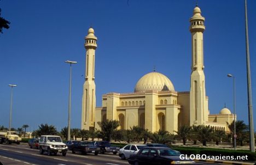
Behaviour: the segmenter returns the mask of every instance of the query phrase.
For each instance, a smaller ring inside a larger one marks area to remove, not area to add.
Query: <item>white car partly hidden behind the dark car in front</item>
[[[121,157],[122,160],[125,160],[126,158],[129,158],[132,154],[137,154],[139,149],[142,149],[146,147],[145,144],[127,144],[123,148],[119,150],[119,157]]]

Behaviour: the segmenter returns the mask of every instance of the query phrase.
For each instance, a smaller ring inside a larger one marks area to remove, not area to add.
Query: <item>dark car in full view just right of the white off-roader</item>
[[[72,153],[75,154],[75,152],[81,152],[82,154],[94,154],[98,155],[98,152],[100,152],[100,148],[96,147],[94,145],[94,142],[91,141],[82,141],[82,142],[74,142]]]

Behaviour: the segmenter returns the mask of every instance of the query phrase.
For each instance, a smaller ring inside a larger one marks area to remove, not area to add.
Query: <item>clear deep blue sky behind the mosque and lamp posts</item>
[[[98,38],[96,97],[132,92],[140,77],[153,71],[166,75],[176,91],[189,91],[191,35],[189,19],[196,1],[14,1],[2,0],[2,17],[11,22],[0,34],[0,125],[8,127],[10,87],[13,122],[28,130],[40,124],[67,125],[69,66],[72,70],[71,127],[80,127],[85,48],[90,25]],[[254,119],[256,108],[256,5],[248,0]],[[238,120],[248,123],[244,1],[198,1],[205,17],[206,95],[211,113],[233,109],[236,77]],[[254,127],[256,123],[254,123]]]

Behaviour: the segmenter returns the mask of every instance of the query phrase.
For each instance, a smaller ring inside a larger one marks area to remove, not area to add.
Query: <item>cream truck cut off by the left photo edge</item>
[[[2,143],[16,143],[20,144],[21,138],[17,135],[15,131],[7,131],[7,132],[0,132],[0,144]]]

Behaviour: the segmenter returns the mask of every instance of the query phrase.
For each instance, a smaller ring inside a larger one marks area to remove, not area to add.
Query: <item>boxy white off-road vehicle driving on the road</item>
[[[57,155],[60,152],[62,156],[67,154],[67,145],[62,143],[60,136],[42,135],[39,140],[39,152],[42,155],[45,151],[48,155]]]

